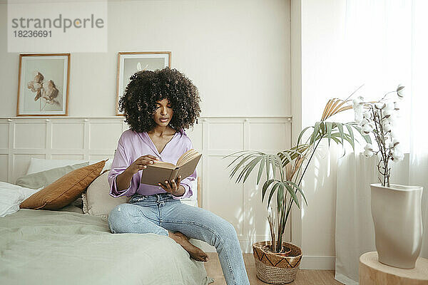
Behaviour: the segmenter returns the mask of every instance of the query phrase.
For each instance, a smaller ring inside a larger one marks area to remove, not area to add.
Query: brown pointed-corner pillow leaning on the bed
[[[19,205],[20,209],[61,209],[76,200],[100,175],[107,160],[68,172]]]

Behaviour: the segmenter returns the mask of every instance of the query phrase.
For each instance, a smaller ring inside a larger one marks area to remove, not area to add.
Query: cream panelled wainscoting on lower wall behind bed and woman
[[[0,180],[16,182],[25,175],[31,157],[113,159],[118,138],[127,129],[120,116],[0,118]],[[253,242],[270,239],[267,201],[261,203],[262,185],[256,185],[256,175],[250,175],[245,185],[230,180],[227,166],[236,155],[223,157],[240,150],[276,153],[290,147],[291,118],[203,117],[185,132],[203,154],[198,165],[202,207],[232,223],[243,252],[252,252]],[[290,227],[285,240],[290,240]],[[213,251],[207,246],[203,249]]]

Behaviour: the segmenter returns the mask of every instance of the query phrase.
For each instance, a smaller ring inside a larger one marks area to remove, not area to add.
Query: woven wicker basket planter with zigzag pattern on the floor
[[[270,242],[255,242],[253,244],[253,256],[257,277],[268,284],[287,284],[295,280],[299,271],[302,250],[294,244],[282,242],[283,247],[291,249],[290,254],[283,256],[263,249]]]

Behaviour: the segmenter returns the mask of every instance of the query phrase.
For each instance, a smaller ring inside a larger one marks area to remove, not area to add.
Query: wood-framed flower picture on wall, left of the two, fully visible
[[[70,53],[20,54],[16,115],[68,115]]]

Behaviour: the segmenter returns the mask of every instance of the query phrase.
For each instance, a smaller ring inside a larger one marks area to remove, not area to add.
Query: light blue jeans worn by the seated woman
[[[183,204],[170,193],[135,194],[108,214],[115,233],[162,234],[168,230],[199,239],[215,247],[228,285],[250,285],[235,227],[212,212]]]

